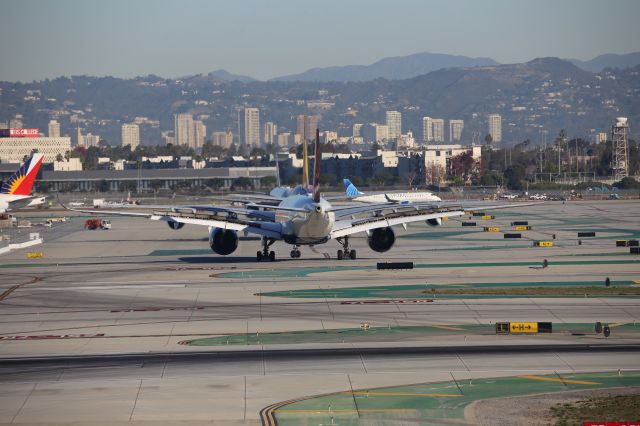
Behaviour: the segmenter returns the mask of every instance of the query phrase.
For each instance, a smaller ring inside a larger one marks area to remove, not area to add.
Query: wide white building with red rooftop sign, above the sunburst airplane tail
[[[34,151],[44,154],[44,161],[53,162],[58,155],[65,155],[71,150],[71,138],[47,138],[41,137],[37,129],[33,129],[28,136],[13,136],[24,132],[15,132],[15,130],[32,130],[32,129],[10,129],[6,135],[0,136],[0,162],[2,163],[22,163],[25,156],[29,157]]]

